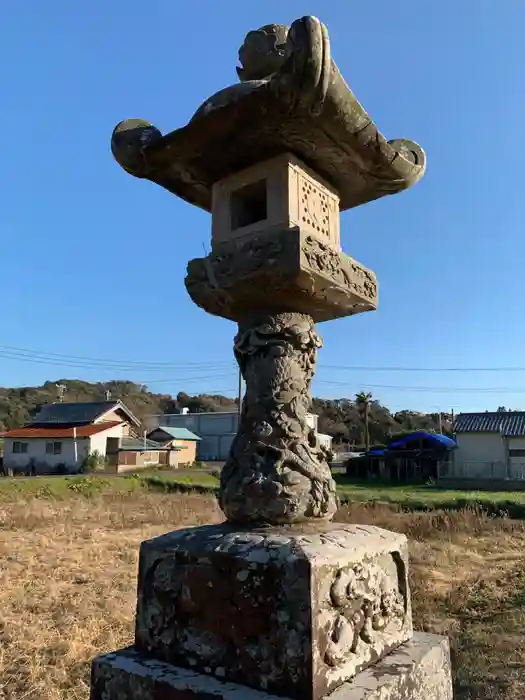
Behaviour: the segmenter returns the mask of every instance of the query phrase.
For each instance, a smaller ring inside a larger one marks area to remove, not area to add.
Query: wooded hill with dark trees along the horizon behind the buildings
[[[57,384],[63,385],[64,401],[100,401],[111,392],[111,398],[121,399],[130,410],[144,420],[156,413],[173,413],[187,407],[190,411],[232,411],[237,400],[225,396],[200,394],[190,396],[179,392],[176,397],[169,394],[155,394],[133,382],[111,381],[92,384],[79,380],[60,379],[46,382],[40,387],[0,388],[0,430],[9,430],[27,423],[42,405],[58,400]],[[360,395],[357,399],[336,400],[318,399],[313,401],[313,411],[319,415],[319,432],[334,437],[335,444],[359,444],[365,440],[365,410],[371,444],[382,444],[389,436],[407,430],[439,430],[437,413],[399,411],[391,413],[372,397]],[[365,404],[368,408],[365,409]],[[450,429],[451,417],[442,414],[442,428]]]

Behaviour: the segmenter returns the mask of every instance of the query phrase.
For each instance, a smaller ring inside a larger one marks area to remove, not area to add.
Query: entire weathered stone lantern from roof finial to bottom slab
[[[379,133],[315,17],[249,32],[239,60],[240,83],[183,128],[113,132],[127,172],[211,213],[211,253],[185,283],[238,324],[246,395],[221,473],[227,522],[143,543],[135,646],[95,660],[92,698],[448,700],[446,640],[412,632],[406,538],[331,522],[335,483],[306,420],[314,324],[378,301],[374,273],[341,250],[340,213],[415,184],[425,154]]]

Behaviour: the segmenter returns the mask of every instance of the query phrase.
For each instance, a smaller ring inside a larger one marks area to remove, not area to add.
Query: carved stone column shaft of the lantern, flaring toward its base
[[[331,519],[335,483],[307,423],[322,345],[302,313],[248,316],[235,358],[246,382],[239,432],[221,473],[220,505],[232,522]]]

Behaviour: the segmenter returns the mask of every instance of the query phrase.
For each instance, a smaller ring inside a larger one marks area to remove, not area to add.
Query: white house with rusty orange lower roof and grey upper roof
[[[88,455],[105,457],[108,446],[116,449],[138,431],[139,421],[120,401],[48,404],[31,423],[4,434],[4,469],[79,471]]]

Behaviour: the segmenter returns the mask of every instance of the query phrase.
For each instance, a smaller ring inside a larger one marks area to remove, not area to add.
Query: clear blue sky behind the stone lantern
[[[110,136],[127,117],[183,126],[236,81],[248,30],[305,14],[327,24],[382,133],[428,157],[413,189],[342,216],[343,248],[376,272],[380,308],[319,326],[314,393],[369,389],[393,410],[525,407],[524,371],[430,371],[525,367],[522,0],[6,5],[1,385],[130,378],[235,393],[235,326],[184,288],[210,217],[124,173]]]

